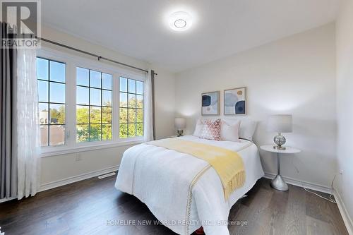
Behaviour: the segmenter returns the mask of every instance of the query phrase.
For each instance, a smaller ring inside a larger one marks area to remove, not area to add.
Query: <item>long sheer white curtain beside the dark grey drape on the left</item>
[[[17,50],[18,199],[40,182],[40,128],[35,49]]]

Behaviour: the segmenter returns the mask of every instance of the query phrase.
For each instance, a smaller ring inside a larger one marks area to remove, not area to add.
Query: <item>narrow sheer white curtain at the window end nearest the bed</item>
[[[143,138],[145,142],[153,140],[152,72],[151,70],[148,71],[145,80],[145,119],[143,119]]]

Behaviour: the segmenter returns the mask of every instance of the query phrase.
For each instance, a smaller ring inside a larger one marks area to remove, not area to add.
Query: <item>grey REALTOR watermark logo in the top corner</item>
[[[41,35],[40,0],[0,1],[1,22],[7,23],[1,48],[38,49]]]

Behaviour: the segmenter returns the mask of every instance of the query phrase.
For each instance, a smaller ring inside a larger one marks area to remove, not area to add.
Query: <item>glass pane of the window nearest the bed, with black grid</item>
[[[120,77],[119,137],[143,136],[143,82]]]

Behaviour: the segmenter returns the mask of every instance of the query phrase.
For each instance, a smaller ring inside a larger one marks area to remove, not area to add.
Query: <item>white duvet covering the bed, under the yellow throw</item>
[[[229,234],[229,210],[264,173],[258,148],[248,140],[240,143],[181,137],[224,147],[239,153],[246,181],[225,200],[222,183],[208,162],[174,150],[140,144],[124,152],[115,187],[135,195],[155,217],[177,234],[191,234],[203,226],[207,235]]]

